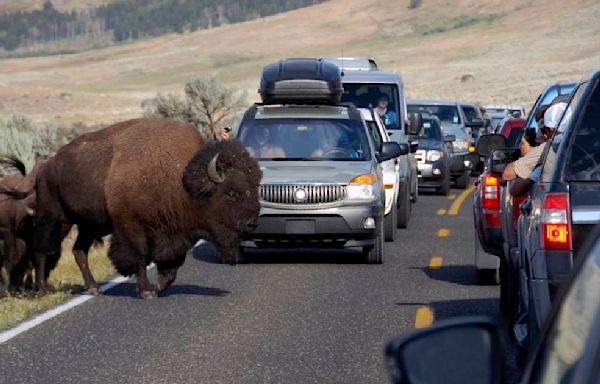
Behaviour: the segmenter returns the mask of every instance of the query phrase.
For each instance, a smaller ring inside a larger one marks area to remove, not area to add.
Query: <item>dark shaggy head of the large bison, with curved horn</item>
[[[196,201],[210,204],[220,228],[237,234],[254,229],[260,203],[262,173],[237,140],[211,141],[200,149],[183,174],[185,190]]]

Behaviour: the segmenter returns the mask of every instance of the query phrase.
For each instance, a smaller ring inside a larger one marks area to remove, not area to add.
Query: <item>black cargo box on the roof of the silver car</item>
[[[320,59],[287,59],[263,68],[258,93],[264,104],[338,104],[340,68]]]

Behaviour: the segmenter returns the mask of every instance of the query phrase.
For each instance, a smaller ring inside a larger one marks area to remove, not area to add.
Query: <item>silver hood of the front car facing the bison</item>
[[[259,161],[262,184],[348,184],[364,173],[376,172],[371,161]]]

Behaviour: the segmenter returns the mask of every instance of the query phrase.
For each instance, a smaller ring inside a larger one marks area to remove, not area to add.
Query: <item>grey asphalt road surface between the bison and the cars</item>
[[[502,321],[499,288],[476,284],[471,196],[452,203],[421,195],[383,265],[313,252],[228,266],[197,247],[159,299],[124,283],[0,345],[0,382],[387,383],[384,343],[420,308]]]

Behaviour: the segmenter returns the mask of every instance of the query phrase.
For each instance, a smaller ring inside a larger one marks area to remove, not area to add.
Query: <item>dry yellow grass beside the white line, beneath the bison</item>
[[[70,251],[73,242],[73,235],[65,239],[63,254],[56,269],[50,274],[50,284],[54,287],[53,293],[43,297],[36,297],[33,294],[8,296],[4,291],[0,291],[0,330],[9,328],[37,312],[49,309],[83,290],[83,279]],[[90,250],[90,268],[98,281],[115,274],[110,260],[106,257],[107,250],[108,241]]]

